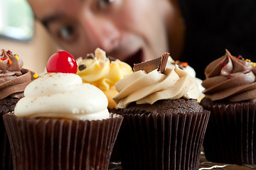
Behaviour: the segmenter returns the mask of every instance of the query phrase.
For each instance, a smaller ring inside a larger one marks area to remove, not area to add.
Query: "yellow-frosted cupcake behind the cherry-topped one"
[[[107,57],[106,52],[97,48],[95,54],[90,53],[86,57],[79,57],[77,74],[82,82],[89,83],[101,89],[107,96],[107,108],[114,109],[117,104],[113,97],[118,94],[114,84],[132,73],[132,67],[113,57]]]

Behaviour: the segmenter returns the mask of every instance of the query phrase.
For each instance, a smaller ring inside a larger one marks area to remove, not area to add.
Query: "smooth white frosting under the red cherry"
[[[107,96],[76,74],[47,73],[32,81],[14,114],[28,118],[102,120],[110,117]]]

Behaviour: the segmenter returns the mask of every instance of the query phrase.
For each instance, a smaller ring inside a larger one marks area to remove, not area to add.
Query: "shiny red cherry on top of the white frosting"
[[[78,64],[73,55],[66,51],[55,52],[46,64],[47,72],[74,73],[78,71]]]

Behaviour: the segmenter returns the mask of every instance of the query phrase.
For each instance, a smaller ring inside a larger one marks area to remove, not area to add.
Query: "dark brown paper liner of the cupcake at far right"
[[[210,119],[203,142],[206,159],[228,164],[256,164],[255,103],[205,107]]]

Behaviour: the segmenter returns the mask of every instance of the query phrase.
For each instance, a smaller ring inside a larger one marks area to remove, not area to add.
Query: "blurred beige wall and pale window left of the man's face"
[[[58,50],[46,29],[34,21],[26,0],[0,0],[0,50],[11,50],[23,68],[45,72],[48,57]]]

